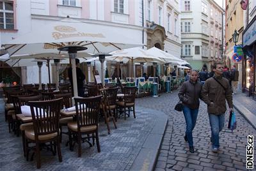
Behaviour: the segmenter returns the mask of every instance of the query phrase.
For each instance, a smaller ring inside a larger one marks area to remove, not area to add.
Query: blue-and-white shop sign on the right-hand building
[[[243,47],[250,46],[256,40],[256,20],[243,34]]]

